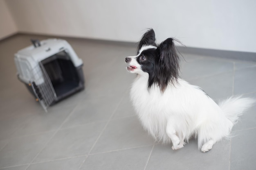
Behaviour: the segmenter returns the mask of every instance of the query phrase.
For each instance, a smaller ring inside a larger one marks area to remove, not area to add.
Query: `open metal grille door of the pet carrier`
[[[56,93],[43,64],[41,62],[38,64],[29,72],[31,75],[31,86],[40,105],[47,112],[47,107],[56,100]]]

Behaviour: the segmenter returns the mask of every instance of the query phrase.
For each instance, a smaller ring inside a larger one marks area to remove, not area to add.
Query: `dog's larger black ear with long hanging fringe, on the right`
[[[158,85],[163,93],[168,83],[177,82],[180,59],[173,38],[168,38],[159,44],[156,52],[159,57],[159,66],[157,67]]]

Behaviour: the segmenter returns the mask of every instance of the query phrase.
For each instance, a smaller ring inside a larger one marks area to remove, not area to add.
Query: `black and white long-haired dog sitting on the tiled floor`
[[[200,87],[179,78],[174,41],[167,38],[157,45],[153,29],[142,36],[137,55],[125,59],[128,72],[137,74],[130,98],[144,129],[157,141],[172,143],[176,150],[195,137],[205,153],[230,137],[238,116],[255,100],[238,96],[217,104]]]

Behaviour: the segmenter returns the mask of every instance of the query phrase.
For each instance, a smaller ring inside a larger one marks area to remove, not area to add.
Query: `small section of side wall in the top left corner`
[[[0,0],[0,39],[8,37],[17,32],[11,13],[4,0]]]

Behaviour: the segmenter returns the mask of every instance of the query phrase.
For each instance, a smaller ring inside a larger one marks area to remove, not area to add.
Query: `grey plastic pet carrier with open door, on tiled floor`
[[[47,112],[49,105],[84,89],[83,61],[63,39],[31,41],[15,54],[17,76]]]

